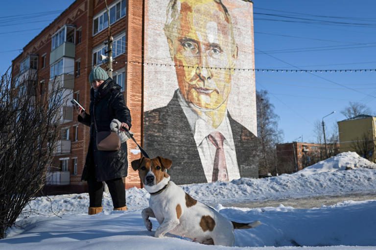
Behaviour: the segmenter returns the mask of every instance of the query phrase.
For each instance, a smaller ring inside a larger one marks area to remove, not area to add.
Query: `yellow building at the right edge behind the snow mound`
[[[376,117],[358,115],[338,122],[340,152],[354,151],[376,162]]]

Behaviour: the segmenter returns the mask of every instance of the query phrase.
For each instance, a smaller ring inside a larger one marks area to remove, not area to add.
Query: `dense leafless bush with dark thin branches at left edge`
[[[0,238],[45,183],[60,129],[62,89],[41,89],[34,76],[0,82]]]

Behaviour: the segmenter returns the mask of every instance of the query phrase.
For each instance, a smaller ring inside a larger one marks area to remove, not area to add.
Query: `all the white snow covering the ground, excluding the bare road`
[[[284,250],[300,246],[307,246],[303,247],[305,250],[376,249],[376,200],[346,201],[310,209],[282,204],[277,208],[226,207],[226,204],[257,200],[375,193],[375,166],[348,152],[291,175],[182,187],[192,197],[211,204],[233,221],[261,221],[262,225],[256,229],[235,230],[236,247],[233,249]],[[345,170],[346,167],[352,169]],[[154,238],[158,222],[152,220],[153,231],[149,232],[141,219],[141,210],[148,206],[148,198],[144,189],[128,189],[129,210],[112,211],[111,198],[105,194],[104,212],[92,216],[86,214],[87,194],[40,198],[25,208],[23,215],[30,217],[20,218],[17,222],[20,227],[8,230],[7,238],[0,240],[0,249],[225,249],[174,235]],[[33,212],[29,214],[29,211]]]

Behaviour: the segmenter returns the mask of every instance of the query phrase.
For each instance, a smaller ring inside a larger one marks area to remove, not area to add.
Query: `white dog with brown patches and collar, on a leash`
[[[132,162],[132,168],[139,171],[140,179],[150,193],[149,208],[142,210],[145,227],[149,231],[152,229],[149,217],[156,218],[160,224],[155,237],[161,238],[170,232],[203,244],[233,246],[234,229],[250,229],[260,225],[259,221],[229,221],[213,208],[190,197],[170,181],[166,169],[171,165],[171,160],[162,157],[142,157]]]

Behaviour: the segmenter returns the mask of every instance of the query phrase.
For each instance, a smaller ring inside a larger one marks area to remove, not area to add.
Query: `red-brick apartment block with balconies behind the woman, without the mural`
[[[141,63],[127,64],[127,59],[141,62],[140,37],[142,1],[108,0],[113,43],[113,79],[123,87],[124,97],[132,111],[133,132],[141,138]],[[132,6],[131,8],[128,8]],[[102,65],[100,55],[106,55],[108,20],[104,0],[76,0],[59,17],[31,40],[12,61],[12,79],[23,84],[36,76],[41,87],[56,77],[69,99],[75,98],[85,107],[90,103],[88,77],[94,64]],[[136,38],[135,38],[136,37]],[[128,43],[128,46],[126,44]],[[128,47],[128,51],[126,51]],[[131,51],[131,52],[130,52]],[[103,63],[103,64],[102,64]],[[128,72],[128,74],[127,74]],[[131,73],[129,73],[131,72]],[[132,80],[130,80],[132,79]],[[129,93],[132,93],[130,95]],[[83,192],[81,174],[89,144],[90,128],[77,122],[70,102],[62,108],[62,125],[53,164],[47,179],[47,192]],[[128,148],[135,148],[133,142]],[[130,155],[129,161],[139,155]],[[138,175],[129,169],[126,187],[140,187]]]

